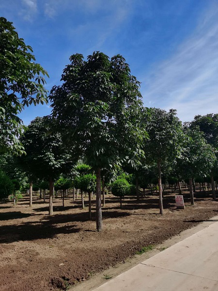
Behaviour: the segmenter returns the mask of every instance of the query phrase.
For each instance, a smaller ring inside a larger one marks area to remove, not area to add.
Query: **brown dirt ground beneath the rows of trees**
[[[89,221],[88,207],[82,210],[71,194],[64,208],[61,199],[54,199],[53,216],[47,215],[48,199],[44,204],[37,196],[32,208],[28,197],[15,207],[12,202],[0,204],[0,290],[66,290],[125,262],[143,246],[161,243],[218,214],[218,202],[211,197],[197,197],[191,206],[184,194],[185,210],[176,210],[173,194],[165,195],[163,217],[156,195],[147,194],[140,203],[128,197],[122,210],[118,198],[107,195],[101,233],[95,231],[94,211]]]

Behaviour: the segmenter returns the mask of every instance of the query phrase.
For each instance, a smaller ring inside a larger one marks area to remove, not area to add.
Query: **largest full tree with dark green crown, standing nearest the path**
[[[101,169],[124,160],[134,164],[129,152],[135,158],[143,152],[142,102],[140,83],[121,55],[109,59],[97,51],[87,59],[70,57],[62,85],[54,86],[49,98],[64,145],[80,150],[95,171],[96,228],[101,231]]]

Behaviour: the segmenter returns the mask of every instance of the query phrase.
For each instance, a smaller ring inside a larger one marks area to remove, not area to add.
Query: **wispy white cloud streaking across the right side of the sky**
[[[142,92],[146,106],[177,109],[182,121],[218,113],[218,4],[199,20],[173,55],[155,64]]]

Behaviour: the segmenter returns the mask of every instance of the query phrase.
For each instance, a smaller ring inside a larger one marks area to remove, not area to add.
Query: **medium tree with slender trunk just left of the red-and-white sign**
[[[149,140],[145,142],[144,151],[147,162],[156,163],[158,169],[159,207],[163,215],[161,166],[169,159],[172,160],[181,153],[181,141],[183,139],[182,123],[176,117],[176,110],[151,108],[146,113],[146,130]]]

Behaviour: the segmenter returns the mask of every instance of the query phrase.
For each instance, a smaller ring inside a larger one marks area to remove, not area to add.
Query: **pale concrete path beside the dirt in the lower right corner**
[[[218,218],[94,291],[218,291]]]

